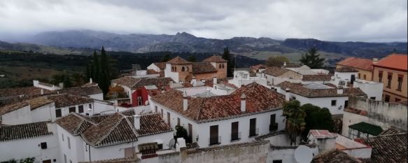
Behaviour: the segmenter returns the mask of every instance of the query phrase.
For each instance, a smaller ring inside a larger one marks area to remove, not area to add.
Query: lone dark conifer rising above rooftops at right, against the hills
[[[302,64],[309,66],[311,69],[320,69],[323,67],[324,58],[319,57],[320,54],[318,54],[318,49],[316,47],[311,48],[306,52],[304,55],[302,55],[302,58],[300,59],[300,62]]]

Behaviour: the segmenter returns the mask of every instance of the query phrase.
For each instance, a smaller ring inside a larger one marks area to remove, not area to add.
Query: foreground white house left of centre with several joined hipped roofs
[[[91,117],[71,113],[57,124],[60,157],[67,162],[133,157],[142,143],[173,148],[168,146],[173,130],[157,113],[135,115],[125,111]]]

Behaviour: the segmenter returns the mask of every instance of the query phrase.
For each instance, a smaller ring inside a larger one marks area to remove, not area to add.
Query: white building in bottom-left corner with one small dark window
[[[35,122],[0,125],[0,162],[34,157],[36,163],[62,162],[55,125]]]

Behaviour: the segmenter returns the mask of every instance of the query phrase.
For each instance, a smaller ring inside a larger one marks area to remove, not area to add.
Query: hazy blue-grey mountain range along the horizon
[[[223,52],[225,47],[240,55],[258,52],[302,54],[311,47],[322,52],[343,56],[384,57],[391,52],[407,53],[407,43],[365,43],[320,41],[314,38],[287,38],[276,40],[261,37],[234,37],[213,39],[196,37],[186,32],[169,34],[114,34],[105,31],[69,30],[47,31],[22,40],[26,43],[48,45],[55,48],[93,48],[126,52]],[[4,43],[3,43],[4,44]],[[30,45],[30,44],[23,44]],[[32,45],[31,45],[32,46]],[[1,48],[1,43],[0,43]]]

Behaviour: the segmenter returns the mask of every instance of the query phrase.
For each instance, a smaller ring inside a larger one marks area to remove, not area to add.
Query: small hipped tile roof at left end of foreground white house
[[[69,113],[69,115],[59,118],[55,122],[64,128],[66,132],[73,135],[79,135],[91,125],[95,125],[92,120],[85,118],[83,115],[79,115],[78,113]]]

